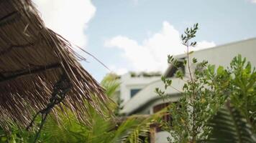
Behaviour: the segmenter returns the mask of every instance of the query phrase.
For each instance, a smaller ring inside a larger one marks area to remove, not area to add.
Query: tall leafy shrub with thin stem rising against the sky
[[[211,127],[206,126],[209,119],[216,114],[221,104],[223,104],[225,92],[229,88],[219,89],[221,82],[229,83],[229,73],[221,68],[215,72],[215,66],[208,65],[207,61],[198,62],[196,58],[190,61],[191,46],[196,46],[196,41],[190,41],[196,36],[198,24],[194,24],[190,29],[186,29],[181,35],[183,45],[187,46],[187,58],[182,62],[188,67],[188,75],[177,71],[175,76],[186,83],[177,104],[171,104],[170,115],[172,123],[169,124],[171,137],[169,142],[196,142],[199,139],[206,139],[211,131]],[[178,68],[180,62],[173,56],[168,56],[168,63]],[[191,68],[191,64],[196,64],[196,69]],[[220,78],[221,77],[221,78]],[[224,79],[224,80],[223,80]],[[171,79],[162,78],[165,89],[171,87]],[[161,96],[165,95],[160,89],[156,92]]]

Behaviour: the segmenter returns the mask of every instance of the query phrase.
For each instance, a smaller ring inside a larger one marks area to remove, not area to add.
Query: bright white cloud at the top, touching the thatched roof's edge
[[[78,46],[86,46],[84,34],[96,7],[91,0],[34,0],[45,25]]]

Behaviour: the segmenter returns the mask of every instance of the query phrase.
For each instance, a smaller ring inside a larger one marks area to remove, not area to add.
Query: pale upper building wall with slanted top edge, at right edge
[[[229,66],[234,56],[238,54],[241,54],[242,57],[246,57],[247,61],[251,62],[252,66],[256,66],[256,38],[194,51],[193,54],[190,55],[190,61],[195,57],[198,61],[206,60],[209,64],[214,64],[216,67],[224,66],[224,68],[226,68]],[[186,55],[183,54],[177,57],[183,58],[186,57]]]

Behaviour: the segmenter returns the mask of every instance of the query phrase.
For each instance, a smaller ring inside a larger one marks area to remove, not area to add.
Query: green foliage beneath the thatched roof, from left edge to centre
[[[119,88],[119,82],[116,79],[118,77],[115,74],[109,74],[101,82],[101,85],[106,89],[106,94],[111,98],[114,98],[116,89]],[[109,103],[109,109],[116,111],[118,108],[120,107],[116,106],[114,102]],[[162,117],[162,112],[148,117],[102,117],[97,114],[93,107],[90,107],[89,111],[91,126],[79,122],[72,112],[68,112],[67,116],[59,111],[60,119],[56,119],[54,116],[48,117],[38,142],[147,142],[150,124]],[[39,124],[40,122],[36,120],[35,123]],[[3,143],[27,143],[33,142],[34,138],[35,132],[33,130],[27,132],[15,125],[10,127],[9,133],[0,129],[0,142]]]

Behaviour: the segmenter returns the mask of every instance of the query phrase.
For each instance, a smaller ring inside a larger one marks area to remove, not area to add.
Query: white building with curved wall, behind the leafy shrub
[[[224,44],[221,46],[215,46],[209,49],[203,49],[199,51],[194,51],[193,54],[190,55],[190,58],[193,59],[195,57],[198,61],[209,61],[209,64],[215,64],[216,66],[229,66],[230,61],[241,54],[242,57],[246,57],[247,61],[250,61],[252,66],[256,66],[256,38],[247,39],[243,41],[236,41],[229,44]],[[184,59],[186,58],[186,54],[180,54],[175,56],[176,59]],[[192,60],[190,60],[192,61]],[[164,76],[173,78],[172,86],[176,89],[181,90],[183,87],[183,81],[180,79],[175,79],[173,74],[175,73],[175,67],[169,66],[165,71]],[[188,71],[186,68],[185,72]],[[179,98],[179,92],[175,89],[165,90],[167,94],[171,96],[168,101],[164,101],[161,97],[159,97],[155,93],[155,88],[160,88],[164,90],[164,84],[160,80],[160,77],[155,77],[152,80],[147,80],[144,82],[143,86],[140,87],[140,92],[137,92],[132,96],[132,98],[127,98],[127,93],[133,87],[136,87],[137,81],[133,79],[127,80],[129,84],[128,89],[126,87],[121,87],[121,97],[124,98],[124,108],[122,109],[123,114],[153,114],[157,112],[160,108],[166,106],[165,102],[177,102]],[[137,88],[137,87],[136,87]],[[122,95],[124,93],[124,95]],[[155,134],[155,141],[157,143],[165,143],[167,142],[168,133],[166,132],[157,132]]]

